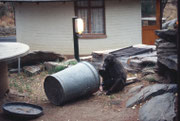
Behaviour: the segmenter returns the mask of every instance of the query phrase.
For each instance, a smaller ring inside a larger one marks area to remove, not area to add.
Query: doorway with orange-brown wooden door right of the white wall
[[[142,43],[154,45],[158,38],[155,30],[160,29],[160,0],[141,0]]]

